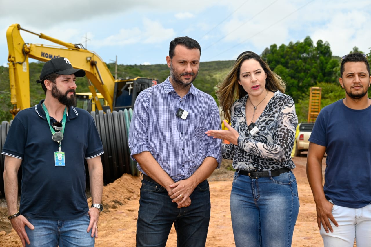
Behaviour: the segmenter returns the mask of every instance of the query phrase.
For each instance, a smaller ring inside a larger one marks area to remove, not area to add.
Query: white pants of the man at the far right
[[[332,203],[332,201],[330,200]],[[357,247],[371,246],[371,204],[362,208],[349,208],[334,205],[332,215],[338,227],[330,221],[334,232],[326,233],[321,224],[321,236],[325,247],[353,247],[354,238]]]

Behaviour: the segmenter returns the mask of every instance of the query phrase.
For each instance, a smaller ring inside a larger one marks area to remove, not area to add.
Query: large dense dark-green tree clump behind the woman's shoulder
[[[318,40],[314,44],[307,36],[302,42],[290,42],[279,47],[272,44],[261,56],[286,82],[286,93],[295,102],[307,97],[308,88],[320,81],[336,83],[339,62],[332,58],[328,42]]]

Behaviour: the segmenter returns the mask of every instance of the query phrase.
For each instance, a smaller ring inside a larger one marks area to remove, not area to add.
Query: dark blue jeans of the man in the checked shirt
[[[177,208],[158,183],[142,180],[137,220],[137,246],[165,246],[171,227],[177,246],[205,246],[210,221],[210,190],[207,180],[190,196],[191,205]]]

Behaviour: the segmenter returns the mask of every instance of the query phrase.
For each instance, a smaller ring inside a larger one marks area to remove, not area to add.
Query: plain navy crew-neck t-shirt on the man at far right
[[[324,107],[309,141],[326,147],[324,191],[335,205],[371,203],[371,106],[353,110],[338,100]]]

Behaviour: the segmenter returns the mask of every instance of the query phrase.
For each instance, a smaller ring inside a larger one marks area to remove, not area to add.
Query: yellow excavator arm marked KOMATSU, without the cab
[[[61,46],[26,43],[20,35],[20,30],[35,34],[41,39],[52,41]],[[22,29],[19,24],[13,24],[7,29],[6,38],[9,50],[8,64],[13,117],[19,110],[30,107],[29,58],[49,61],[55,57],[67,57],[74,68],[85,70],[86,77],[92,84],[89,89],[93,96],[96,95],[95,90],[98,90],[107,101],[111,111],[113,110],[115,79],[104,61],[96,53],[82,49],[76,44]]]

